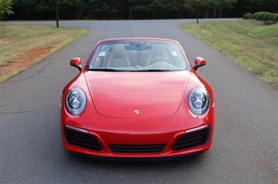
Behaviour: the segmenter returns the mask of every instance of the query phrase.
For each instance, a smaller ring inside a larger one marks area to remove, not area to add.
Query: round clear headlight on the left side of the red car
[[[72,115],[81,113],[86,104],[86,95],[82,89],[72,88],[65,97],[65,107]]]

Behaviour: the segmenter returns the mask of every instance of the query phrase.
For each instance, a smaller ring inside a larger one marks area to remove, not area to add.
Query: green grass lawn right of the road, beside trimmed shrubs
[[[180,27],[278,88],[278,24],[235,19]]]

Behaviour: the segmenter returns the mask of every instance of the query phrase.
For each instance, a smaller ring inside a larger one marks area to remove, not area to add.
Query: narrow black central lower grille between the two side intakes
[[[152,153],[161,152],[165,144],[161,145],[108,145],[113,152],[120,153]]]

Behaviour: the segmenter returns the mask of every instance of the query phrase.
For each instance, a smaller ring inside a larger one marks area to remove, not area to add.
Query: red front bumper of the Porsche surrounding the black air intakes
[[[210,125],[198,126],[201,129],[186,129],[181,131],[172,131],[172,132],[163,132],[156,134],[127,134],[127,133],[113,133],[113,132],[104,132],[104,131],[91,131],[88,129],[81,129],[79,127],[73,127],[64,125],[61,127],[62,137],[63,137],[63,147],[67,151],[74,151],[81,154],[89,154],[95,156],[97,159],[107,158],[110,160],[113,159],[147,159],[147,160],[160,160],[160,159],[175,159],[188,154],[194,154],[197,152],[204,152],[211,147],[212,144],[212,134],[213,127]],[[203,127],[203,128],[202,128]],[[192,147],[185,147],[182,149],[174,150],[173,145],[177,142],[178,138],[181,136],[195,134],[198,131],[204,131],[204,127],[208,128],[208,136],[205,142],[202,142],[202,145],[193,145]],[[81,134],[87,134],[94,137],[99,145],[101,146],[100,150],[90,149],[83,147],[82,145],[73,145],[65,136],[66,129],[72,129],[73,131],[79,131]],[[74,129],[76,128],[76,129]],[[87,131],[87,133],[85,132]],[[187,133],[186,133],[187,132]],[[194,133],[195,132],[195,133]],[[156,143],[163,143],[163,149],[156,152],[115,152],[111,150],[110,144],[123,144],[123,145],[152,145]]]

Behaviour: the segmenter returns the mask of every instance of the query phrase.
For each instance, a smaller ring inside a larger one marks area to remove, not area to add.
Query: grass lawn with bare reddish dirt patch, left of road
[[[85,28],[6,24],[0,37],[0,82],[85,33]]]

